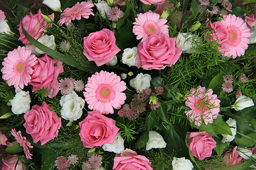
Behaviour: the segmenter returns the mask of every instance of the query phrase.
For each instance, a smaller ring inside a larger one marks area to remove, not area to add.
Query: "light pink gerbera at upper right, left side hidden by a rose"
[[[225,28],[228,30],[228,40],[225,42],[229,46],[229,50],[221,50],[226,57],[240,57],[245,55],[250,40],[248,39],[251,35],[250,28],[247,27],[246,23],[242,18],[229,14],[223,16],[224,20],[220,21]]]

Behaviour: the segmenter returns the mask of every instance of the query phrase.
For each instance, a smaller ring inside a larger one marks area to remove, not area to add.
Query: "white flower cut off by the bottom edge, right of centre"
[[[173,170],[191,170],[193,169],[193,164],[190,160],[185,159],[185,157],[176,158],[174,157],[173,162],[171,162]]]

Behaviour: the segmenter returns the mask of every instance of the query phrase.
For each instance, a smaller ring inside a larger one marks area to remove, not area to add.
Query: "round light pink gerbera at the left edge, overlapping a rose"
[[[37,62],[37,57],[31,55],[31,50],[26,47],[20,47],[9,52],[4,58],[2,78],[7,81],[9,86],[20,87],[23,89],[24,85],[28,86],[31,81],[31,74],[33,74],[33,65]]]

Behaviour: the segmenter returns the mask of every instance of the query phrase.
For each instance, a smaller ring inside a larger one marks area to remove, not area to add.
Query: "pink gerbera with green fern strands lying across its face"
[[[184,99],[186,106],[191,108],[190,111],[186,111],[186,115],[192,123],[200,126],[204,122],[207,125],[218,117],[220,100],[213,94],[212,89],[206,90],[205,87],[198,86],[197,89],[191,89]]]

